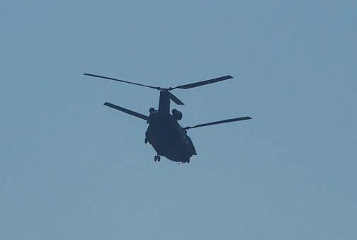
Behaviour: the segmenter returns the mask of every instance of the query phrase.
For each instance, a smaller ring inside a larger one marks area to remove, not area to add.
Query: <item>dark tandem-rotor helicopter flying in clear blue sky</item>
[[[214,84],[219,81],[225,81],[228,79],[232,79],[233,77],[230,75],[220,76],[215,79],[209,79],[205,81],[198,81],[192,84],[183,84],[180,86],[162,88],[159,86],[149,86],[145,84],[138,84],[132,81],[124,81],[120,79],[114,79],[108,76],[100,76],[95,74],[84,74],[86,76],[94,76],[101,79],[109,79],[113,81],[123,82],[125,84],[132,84],[136,86],[142,86],[146,88],[152,88],[159,91],[159,108],[149,108],[149,115],[143,115],[141,113],[137,113],[133,110],[129,110],[127,108],[120,107],[119,105],[115,105],[113,103],[104,103],[109,108],[113,108],[115,110],[120,110],[123,113],[127,113],[136,118],[140,118],[145,120],[149,125],[147,127],[147,131],[145,132],[145,144],[149,142],[152,145],[154,150],[157,152],[157,155],[154,156],[154,161],[160,161],[161,156],[165,156],[166,159],[171,161],[175,161],[176,163],[190,163],[191,156],[197,155],[196,149],[193,146],[193,142],[191,138],[187,135],[187,130],[197,128],[197,127],[205,127],[210,125],[217,125],[227,122],[236,122],[241,120],[249,120],[250,117],[242,117],[242,118],[231,118],[226,120],[219,120],[215,122],[206,122],[199,125],[193,125],[192,127],[181,127],[179,124],[179,120],[182,119],[183,115],[179,110],[173,109],[170,113],[170,103],[173,101],[177,105],[183,105],[184,103],[174,96],[171,93],[174,89],[189,89],[196,88],[198,86],[203,86],[207,84]]]

